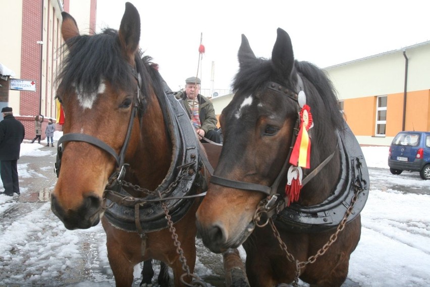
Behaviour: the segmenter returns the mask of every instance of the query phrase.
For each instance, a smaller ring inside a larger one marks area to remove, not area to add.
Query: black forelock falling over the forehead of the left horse
[[[63,53],[68,53],[56,80],[61,92],[69,94],[78,87],[84,97],[89,97],[102,79],[116,89],[134,90],[132,67],[121,53],[117,30],[107,28],[99,34],[77,36],[70,39],[67,46],[69,49],[63,49]],[[156,86],[156,94],[161,95],[160,76],[151,67],[152,59],[149,56],[141,57],[141,52],[137,52],[135,62],[142,77],[142,92],[148,94],[151,85]]]

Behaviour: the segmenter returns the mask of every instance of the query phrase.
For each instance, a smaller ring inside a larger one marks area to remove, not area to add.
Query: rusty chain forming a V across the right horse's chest
[[[338,234],[345,228],[348,217],[352,213],[352,209],[354,208],[354,204],[357,200],[358,194],[359,194],[359,190],[357,190],[356,188],[356,192],[354,193],[354,196],[351,198],[351,204],[346,210],[345,215],[342,218],[342,221],[339,223],[338,227],[336,228],[336,232],[330,236],[329,241],[322,248],[320,248],[315,255],[310,256],[306,261],[299,262],[297,259],[294,258],[294,256],[291,253],[288,252],[287,246],[282,241],[281,235],[279,234],[278,229],[276,228],[272,218],[269,219],[269,224],[272,227],[273,233],[278,240],[279,246],[285,252],[288,261],[294,262],[296,265],[295,277],[294,277],[294,283],[293,283],[294,287],[298,286],[301,269],[305,267],[307,264],[314,263],[318,257],[320,257],[321,255],[324,255],[326,251],[336,242],[338,238]]]

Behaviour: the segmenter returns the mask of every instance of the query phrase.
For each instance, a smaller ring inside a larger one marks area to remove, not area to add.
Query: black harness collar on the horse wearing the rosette
[[[357,217],[364,208],[369,193],[369,174],[363,153],[346,123],[345,130],[338,131],[338,138],[342,173],[331,196],[323,203],[313,206],[292,204],[285,207],[276,216],[276,221],[282,223],[284,229],[313,233],[336,228],[355,193],[358,196],[348,222]]]

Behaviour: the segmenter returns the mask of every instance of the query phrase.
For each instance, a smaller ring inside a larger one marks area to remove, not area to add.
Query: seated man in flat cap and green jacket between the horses
[[[190,108],[189,115],[200,141],[206,142],[203,139],[205,137],[220,143],[220,134],[215,130],[218,123],[217,116],[209,99],[199,94],[200,83],[200,79],[197,77],[187,78],[182,100],[184,100],[185,106]]]

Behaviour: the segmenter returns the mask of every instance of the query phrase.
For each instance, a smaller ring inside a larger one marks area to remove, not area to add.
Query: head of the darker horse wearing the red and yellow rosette
[[[267,197],[267,190],[257,187],[272,186],[284,163],[288,161],[292,145],[294,127],[298,120],[303,99],[298,92],[305,90],[306,103],[312,109],[312,115],[318,119],[323,116],[324,107],[337,107],[336,97],[324,103],[317,97],[321,89],[312,82],[314,78],[325,78],[322,72],[309,63],[294,60],[291,39],[282,29],[273,47],[272,59],[256,58],[247,38],[242,35],[238,53],[239,71],[235,77],[235,95],[230,104],[223,110],[220,123],[223,128],[224,146],[220,161],[214,175],[227,179],[211,183],[197,211],[197,227],[203,243],[213,252],[222,252],[229,247],[242,244],[254,228],[254,215],[260,202]],[[326,79],[327,81],[327,79]],[[327,82],[328,93],[333,93],[330,82]],[[334,109],[334,108],[331,108]],[[328,112],[324,112],[330,117]],[[333,112],[336,113],[336,112]],[[325,121],[340,122],[341,116]],[[314,120],[315,127],[321,124]],[[326,125],[326,123],[324,124]],[[336,128],[332,127],[330,135]],[[312,134],[313,140],[328,130],[318,127],[320,131]],[[324,135],[323,135],[324,136]],[[333,138],[336,146],[336,138]],[[318,152],[312,150],[312,164],[319,161],[321,155],[327,154],[325,147]],[[330,150],[330,148],[327,148]],[[320,155],[321,154],[321,155]],[[314,159],[315,158],[315,159]],[[284,196],[286,176],[281,179],[276,193]],[[211,180],[212,181],[212,180]],[[232,183],[233,181],[233,183]],[[234,182],[252,183],[250,187],[240,186]],[[323,183],[324,184],[324,183]],[[268,188],[270,189],[270,188]],[[325,195],[311,197],[302,190],[300,204],[311,204],[323,200]]]

